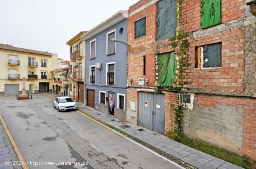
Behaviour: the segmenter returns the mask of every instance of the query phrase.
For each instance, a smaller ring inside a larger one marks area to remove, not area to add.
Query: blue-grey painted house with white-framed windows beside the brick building
[[[119,11],[81,37],[86,41],[86,91],[89,107],[126,120],[128,11]]]

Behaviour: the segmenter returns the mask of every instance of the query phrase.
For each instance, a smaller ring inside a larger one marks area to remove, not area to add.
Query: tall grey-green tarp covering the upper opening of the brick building
[[[157,4],[157,40],[175,36],[177,25],[176,0],[160,0]]]

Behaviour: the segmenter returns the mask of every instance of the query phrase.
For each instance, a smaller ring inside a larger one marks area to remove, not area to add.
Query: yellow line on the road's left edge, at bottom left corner
[[[10,139],[11,144],[13,145],[14,151],[15,151],[16,155],[18,156],[19,161],[22,163],[22,168],[23,169],[28,169],[27,163],[23,159],[23,157],[21,156],[20,150],[18,149],[17,145],[15,144],[15,142],[13,140],[13,137],[12,137],[11,133],[9,132],[9,130],[8,130],[8,128],[7,128],[7,126],[6,126],[5,122],[4,122],[4,119],[2,118],[1,115],[0,115],[0,120],[1,120],[1,122],[3,124],[3,126],[4,126],[4,129],[5,129],[6,133],[7,133],[8,138]]]

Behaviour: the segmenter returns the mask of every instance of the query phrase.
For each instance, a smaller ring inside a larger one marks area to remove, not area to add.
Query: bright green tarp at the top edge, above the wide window
[[[203,29],[222,23],[222,0],[201,0]]]

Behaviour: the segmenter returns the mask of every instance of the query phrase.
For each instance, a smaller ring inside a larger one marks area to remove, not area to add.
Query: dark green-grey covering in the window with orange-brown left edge
[[[203,46],[203,68],[222,67],[222,44],[208,44]]]

